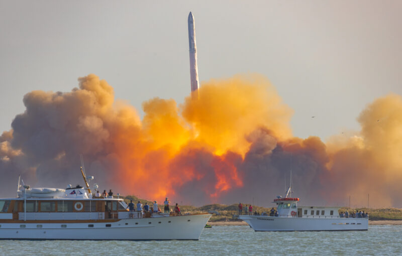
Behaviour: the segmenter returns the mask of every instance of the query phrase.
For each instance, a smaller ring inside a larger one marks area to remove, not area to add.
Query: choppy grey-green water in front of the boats
[[[0,240],[0,255],[401,255],[402,226],[368,231],[254,232],[248,226],[204,229],[199,241]]]

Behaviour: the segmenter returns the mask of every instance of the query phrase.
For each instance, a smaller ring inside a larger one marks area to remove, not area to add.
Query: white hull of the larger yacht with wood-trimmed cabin
[[[20,221],[0,223],[0,239],[198,240],[210,218],[197,214],[111,222]]]

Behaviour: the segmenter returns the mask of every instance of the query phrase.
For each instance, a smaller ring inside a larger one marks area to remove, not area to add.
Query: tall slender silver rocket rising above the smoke
[[[195,45],[195,26],[194,17],[191,12],[188,15],[188,46],[190,48],[190,80],[191,98],[198,99],[198,67],[197,67],[197,47]]]

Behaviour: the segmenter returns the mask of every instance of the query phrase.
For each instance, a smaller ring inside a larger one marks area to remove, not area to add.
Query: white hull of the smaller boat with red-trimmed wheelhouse
[[[367,230],[367,218],[298,218],[240,215],[254,231],[349,231]]]

